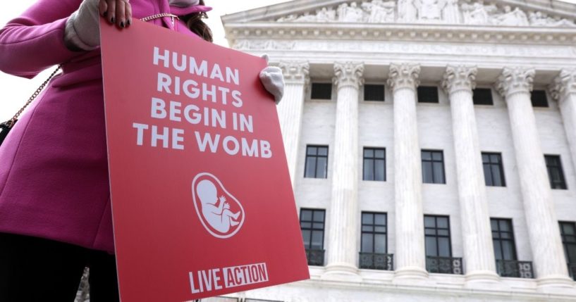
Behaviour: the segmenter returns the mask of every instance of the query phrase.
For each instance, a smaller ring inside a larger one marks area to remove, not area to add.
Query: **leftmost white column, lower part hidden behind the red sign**
[[[307,62],[282,62],[279,67],[284,75],[284,96],[278,104],[278,119],[282,130],[290,180],[294,186],[298,163],[298,144],[302,127],[302,108],[307,85],[310,83],[310,65]]]

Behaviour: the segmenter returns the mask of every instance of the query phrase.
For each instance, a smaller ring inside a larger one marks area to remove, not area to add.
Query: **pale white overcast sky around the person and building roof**
[[[4,26],[9,20],[18,16],[35,1],[37,0],[8,1],[9,4],[3,5],[0,11],[0,26]],[[576,0],[565,1],[576,3]],[[286,0],[206,0],[207,5],[213,6],[214,8],[208,13],[209,18],[206,20],[212,32],[214,32],[214,42],[228,46],[226,39],[224,39],[224,30],[220,21],[221,15],[247,11],[252,8],[270,6],[281,2],[286,2]],[[0,72],[0,91],[2,92],[2,96],[0,97],[0,122],[11,118],[12,115],[23,106],[37,87],[46,80],[52,70],[46,70],[32,80],[14,77]]]

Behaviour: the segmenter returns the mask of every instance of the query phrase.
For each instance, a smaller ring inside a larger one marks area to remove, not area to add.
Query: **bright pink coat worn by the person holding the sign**
[[[0,30],[5,73],[32,78],[66,63],[0,147],[0,232],[114,253],[100,52],[63,44],[66,20],[80,3],[39,0]],[[134,18],[188,13],[168,0],[130,4]],[[171,27],[169,18],[149,22]],[[200,39],[182,21],[177,30]]]

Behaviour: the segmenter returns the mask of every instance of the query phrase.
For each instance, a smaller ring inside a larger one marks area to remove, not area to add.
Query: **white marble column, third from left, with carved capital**
[[[388,86],[394,98],[394,199],[396,277],[426,277],[422,164],[418,142],[416,87],[419,65],[391,64]]]

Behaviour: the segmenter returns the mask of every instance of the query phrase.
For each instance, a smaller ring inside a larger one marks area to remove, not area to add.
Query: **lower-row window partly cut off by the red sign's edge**
[[[308,265],[324,265],[325,210],[300,209],[300,229]]]

